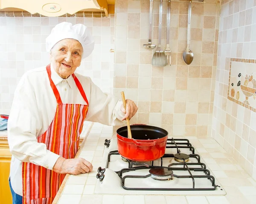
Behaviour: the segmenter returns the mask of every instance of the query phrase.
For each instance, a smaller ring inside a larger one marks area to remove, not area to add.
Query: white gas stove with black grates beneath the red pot
[[[169,138],[163,157],[148,162],[119,155],[117,140],[105,140],[95,193],[226,195],[188,139]]]

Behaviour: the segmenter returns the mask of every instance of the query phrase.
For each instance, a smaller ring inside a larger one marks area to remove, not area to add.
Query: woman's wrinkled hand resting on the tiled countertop
[[[59,157],[52,170],[61,174],[78,175],[92,171],[93,165],[84,158],[65,159]]]

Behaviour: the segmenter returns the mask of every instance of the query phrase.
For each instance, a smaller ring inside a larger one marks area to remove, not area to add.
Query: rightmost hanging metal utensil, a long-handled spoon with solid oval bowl
[[[189,0],[189,17],[188,17],[188,36],[187,36],[187,47],[183,52],[183,60],[186,64],[191,64],[194,58],[193,52],[189,49],[190,44],[190,26],[191,26],[191,0]]]

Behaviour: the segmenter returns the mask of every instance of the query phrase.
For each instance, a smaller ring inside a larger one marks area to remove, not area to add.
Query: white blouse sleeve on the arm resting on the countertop
[[[42,127],[33,85],[26,75],[15,91],[8,120],[8,142],[12,155],[20,161],[31,162],[52,170],[59,155],[47,150],[44,143],[38,143],[37,132]]]

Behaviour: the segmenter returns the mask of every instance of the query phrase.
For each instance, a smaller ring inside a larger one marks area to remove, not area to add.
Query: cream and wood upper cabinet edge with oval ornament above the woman
[[[0,11],[28,11],[58,17],[78,11],[114,13],[115,0],[0,0]]]

